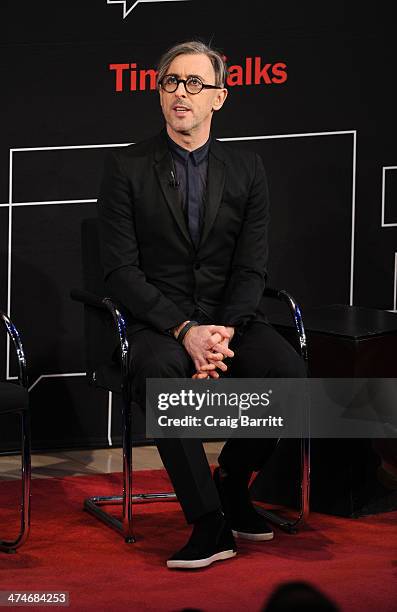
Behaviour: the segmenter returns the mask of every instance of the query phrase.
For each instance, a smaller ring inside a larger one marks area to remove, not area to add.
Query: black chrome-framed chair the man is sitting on
[[[123,494],[122,496],[94,496],[87,498],[84,507],[107,525],[120,532],[127,543],[134,542],[132,515],[134,501],[175,500],[174,493],[132,494],[132,418],[131,377],[129,372],[128,339],[126,322],[121,309],[106,297],[100,258],[100,243],[97,219],[86,219],[82,223],[82,264],[84,289],[74,289],[72,299],[84,305],[85,348],[88,382],[96,387],[122,394],[122,448],[123,448]],[[286,292],[266,289],[265,296],[285,302],[294,318],[298,338],[298,351],[307,360],[306,336],[300,309]],[[120,363],[109,360],[118,337]],[[301,503],[296,519],[290,520],[273,512],[260,511],[281,529],[295,532],[309,514],[310,488],[310,441],[301,441]],[[122,519],[116,519],[101,506],[122,505]]]

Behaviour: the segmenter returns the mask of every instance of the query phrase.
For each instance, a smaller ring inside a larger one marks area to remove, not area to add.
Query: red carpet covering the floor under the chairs
[[[345,612],[397,610],[397,512],[358,520],[314,514],[298,535],[277,531],[272,542],[240,543],[235,559],[176,572],[165,560],[189,534],[177,503],[140,505],[130,545],[82,511],[84,497],[118,493],[119,485],[119,474],[34,480],[30,539],[15,555],[0,553],[0,589],[69,591],[74,610],[251,612],[281,582],[305,580]],[[135,485],[170,489],[161,470],[136,473]],[[2,537],[16,487],[0,484]]]

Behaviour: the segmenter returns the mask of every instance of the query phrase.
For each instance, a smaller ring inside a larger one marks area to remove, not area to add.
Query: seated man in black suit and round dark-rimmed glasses
[[[105,282],[128,311],[135,398],[146,378],[298,377],[303,362],[266,323],[261,298],[268,191],[258,155],[210,137],[227,97],[222,56],[199,42],[170,49],[158,71],[166,129],[112,154],[99,198]],[[193,524],[170,568],[236,554],[234,536],[269,540],[248,482],[274,444],[229,440],[214,479],[197,439],[157,440]]]

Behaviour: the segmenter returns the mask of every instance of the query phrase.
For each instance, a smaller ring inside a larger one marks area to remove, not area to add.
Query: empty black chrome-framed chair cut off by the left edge
[[[0,540],[0,550],[13,553],[26,542],[30,529],[30,412],[26,359],[22,342],[18,330],[4,312],[0,311],[0,318],[4,322],[7,333],[14,344],[19,365],[19,385],[11,382],[0,382],[0,416],[16,414],[21,419],[22,491],[20,530],[15,540]]]

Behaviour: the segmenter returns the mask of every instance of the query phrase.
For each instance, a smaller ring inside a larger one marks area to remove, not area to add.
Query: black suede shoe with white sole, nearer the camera
[[[220,513],[219,513],[220,514]],[[236,543],[223,515],[194,525],[188,543],[167,561],[170,569],[199,569],[236,556]]]

